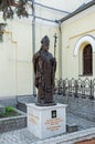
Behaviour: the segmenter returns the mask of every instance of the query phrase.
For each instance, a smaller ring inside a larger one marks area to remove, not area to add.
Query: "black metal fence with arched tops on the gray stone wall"
[[[72,78],[71,80],[56,80],[55,79],[55,94],[59,95],[70,95],[70,96],[82,96],[94,99],[95,97],[95,79],[78,79],[75,80]]]

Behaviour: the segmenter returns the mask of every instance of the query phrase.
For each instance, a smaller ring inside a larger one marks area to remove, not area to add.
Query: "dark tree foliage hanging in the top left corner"
[[[19,18],[28,17],[27,3],[28,0],[0,0],[0,11],[3,13],[3,19],[12,19],[14,13]]]

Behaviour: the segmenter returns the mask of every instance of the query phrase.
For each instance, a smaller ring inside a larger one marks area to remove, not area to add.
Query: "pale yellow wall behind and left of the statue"
[[[1,16],[0,22],[4,22]],[[33,94],[32,18],[14,18],[4,23],[3,42],[0,42],[0,97]],[[50,52],[54,53],[54,33],[59,33],[56,23],[35,21],[35,52],[41,39],[49,35]]]

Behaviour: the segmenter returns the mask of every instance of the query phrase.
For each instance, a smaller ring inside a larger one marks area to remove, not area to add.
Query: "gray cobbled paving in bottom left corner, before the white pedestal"
[[[0,144],[32,144],[38,141],[39,138],[31,134],[28,128],[0,134]]]

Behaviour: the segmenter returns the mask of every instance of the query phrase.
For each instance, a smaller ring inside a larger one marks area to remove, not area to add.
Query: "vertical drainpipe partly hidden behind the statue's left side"
[[[35,53],[35,9],[34,0],[32,0],[32,52]],[[33,72],[34,74],[34,72]],[[33,95],[35,95],[34,75],[33,75]]]

